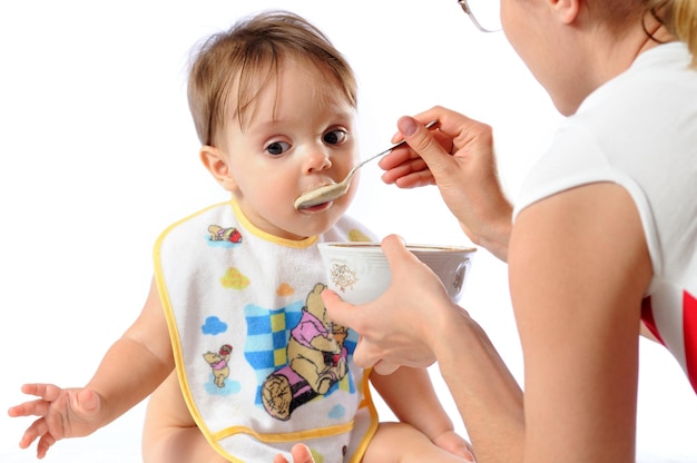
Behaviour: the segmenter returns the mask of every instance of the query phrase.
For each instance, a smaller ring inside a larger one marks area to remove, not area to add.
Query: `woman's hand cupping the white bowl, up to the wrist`
[[[361,335],[354,352],[356,365],[374,366],[380,374],[400,365],[425,367],[435,361],[432,346],[439,342],[439,324],[457,306],[438,276],[397,236],[383,239],[382,249],[392,273],[382,296],[354,306],[325,289],[324,305],[332,321]]]

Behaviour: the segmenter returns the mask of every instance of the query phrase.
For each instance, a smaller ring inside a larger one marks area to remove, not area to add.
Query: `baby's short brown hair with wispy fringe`
[[[357,83],[348,62],[320,29],[292,12],[274,10],[244,18],[205,40],[193,58],[188,101],[204,145],[215,145],[229,117],[237,117],[244,127],[246,110],[278,78],[282,61],[288,58],[316,66],[357,107]]]

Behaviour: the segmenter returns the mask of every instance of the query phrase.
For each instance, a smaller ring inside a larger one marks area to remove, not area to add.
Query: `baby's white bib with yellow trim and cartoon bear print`
[[[345,217],[322,236],[281,239],[233,203],[170,226],[155,247],[155,278],[188,408],[232,462],[360,462],[377,426],[357,335],[325,316],[318,242],[370,240]]]

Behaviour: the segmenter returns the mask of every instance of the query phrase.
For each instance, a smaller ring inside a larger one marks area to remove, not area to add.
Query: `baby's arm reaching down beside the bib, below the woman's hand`
[[[454,432],[428,370],[401,366],[390,375],[372,372],[371,383],[401,422],[411,424],[441,449],[469,457],[469,443]]]

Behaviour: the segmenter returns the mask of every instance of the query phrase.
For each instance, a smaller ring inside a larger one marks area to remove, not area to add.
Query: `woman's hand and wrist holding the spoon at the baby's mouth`
[[[438,120],[438,129],[424,127]],[[436,185],[470,239],[507,260],[512,206],[503,195],[493,152],[491,127],[435,107],[397,121],[409,147],[380,160],[383,181],[400,188]]]

